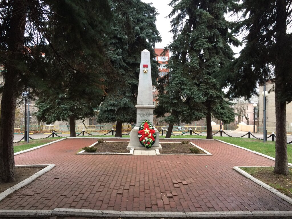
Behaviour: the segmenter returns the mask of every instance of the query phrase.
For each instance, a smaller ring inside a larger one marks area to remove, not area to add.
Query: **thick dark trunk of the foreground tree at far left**
[[[9,15],[6,15],[9,16]],[[15,181],[15,163],[13,154],[13,128],[15,119],[16,98],[21,89],[17,75],[21,75],[23,63],[24,32],[26,24],[26,1],[12,1],[10,29],[8,38],[8,59],[3,73],[4,86],[1,99],[0,118],[0,181]],[[3,64],[3,63],[1,63]]]

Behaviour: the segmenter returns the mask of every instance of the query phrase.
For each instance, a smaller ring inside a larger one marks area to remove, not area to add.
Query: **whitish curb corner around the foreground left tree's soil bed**
[[[33,180],[38,178],[39,176],[43,175],[44,173],[48,172],[52,168],[55,167],[55,164],[44,164],[44,165],[15,165],[15,167],[18,166],[25,166],[25,167],[45,167],[44,169],[40,170],[39,172],[35,173],[34,175],[30,176],[29,178],[26,178],[25,180],[21,181],[20,183],[10,187],[9,189],[5,190],[4,192],[0,193],[0,201],[4,199],[9,194],[15,192],[16,190],[19,190],[21,187],[24,187],[25,185],[31,183]]]

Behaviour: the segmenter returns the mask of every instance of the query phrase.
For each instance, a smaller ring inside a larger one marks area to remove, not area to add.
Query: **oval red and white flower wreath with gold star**
[[[155,130],[152,124],[148,120],[144,120],[139,128],[138,137],[141,145],[146,148],[150,148],[156,138]]]

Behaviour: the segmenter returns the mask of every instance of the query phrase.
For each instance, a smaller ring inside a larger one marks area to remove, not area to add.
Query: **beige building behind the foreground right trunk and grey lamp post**
[[[275,92],[273,91],[273,84],[271,81],[266,83],[266,91],[269,95],[266,97],[266,123],[267,131],[275,132],[276,130],[276,108],[275,108]],[[259,88],[259,121],[260,127],[263,127],[263,86]],[[292,103],[286,105],[286,128],[287,132],[292,132]]]

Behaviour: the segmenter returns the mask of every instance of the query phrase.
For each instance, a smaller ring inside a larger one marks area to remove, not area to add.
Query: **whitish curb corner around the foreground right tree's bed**
[[[252,175],[250,175],[250,174],[246,173],[244,170],[242,170],[241,169],[242,167],[259,167],[259,166],[235,166],[235,167],[233,167],[233,169],[235,171],[239,172],[241,175],[245,176],[246,178],[248,178],[248,179],[252,180],[253,182],[257,183],[261,187],[264,187],[265,189],[267,189],[270,192],[274,193],[275,195],[277,195],[281,199],[284,199],[285,201],[287,201],[290,204],[292,204],[292,199],[290,197],[284,195],[283,193],[281,193],[278,190],[274,189],[273,187],[265,184],[264,182],[258,180],[257,178],[254,178]],[[266,167],[266,166],[262,166],[262,167]]]

